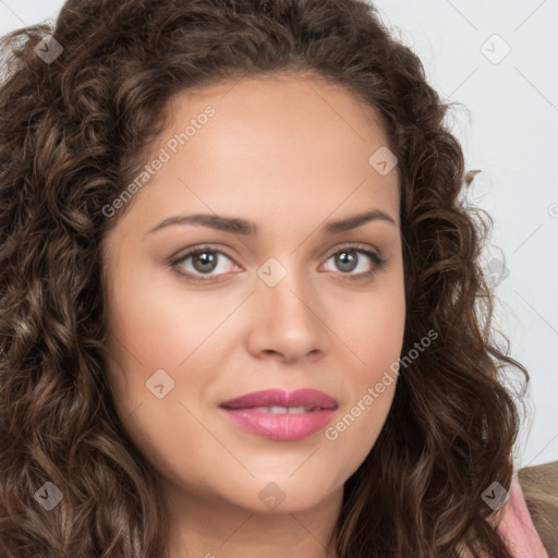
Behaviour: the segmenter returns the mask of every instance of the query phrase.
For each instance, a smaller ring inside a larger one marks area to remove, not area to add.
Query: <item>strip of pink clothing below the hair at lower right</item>
[[[504,505],[498,532],[505,538],[513,558],[548,558],[533,525],[517,474],[513,476],[509,498]]]

